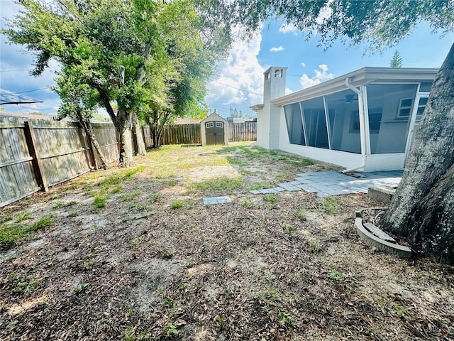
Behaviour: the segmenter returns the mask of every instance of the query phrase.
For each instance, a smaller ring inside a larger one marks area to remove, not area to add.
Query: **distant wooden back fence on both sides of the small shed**
[[[200,124],[170,124],[164,127],[161,144],[201,144]],[[228,141],[255,141],[257,121],[231,123]]]

